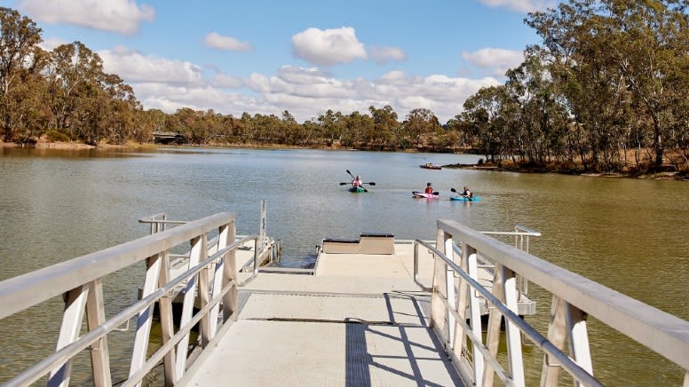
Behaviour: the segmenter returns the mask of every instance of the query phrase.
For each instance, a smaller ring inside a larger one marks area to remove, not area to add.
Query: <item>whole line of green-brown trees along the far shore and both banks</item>
[[[542,43],[506,82],[479,90],[445,123],[427,108],[400,120],[390,106],[297,122],[281,116],[144,109],[83,43],[38,46],[41,28],[0,8],[0,124],[4,141],[348,147],[477,152],[573,170],[671,164],[689,169],[689,0],[570,0],[525,23]]]

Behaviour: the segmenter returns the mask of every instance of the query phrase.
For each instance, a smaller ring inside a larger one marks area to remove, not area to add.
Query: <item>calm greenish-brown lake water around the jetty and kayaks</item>
[[[159,149],[151,153],[39,152],[0,149],[0,280],[104,249],[147,233],[137,219],[160,212],[191,220],[219,211],[238,215],[238,233],[256,233],[261,199],[268,233],[284,244],[287,265],[301,265],[322,238],[362,232],[434,239],[438,218],[481,231],[516,224],[542,232],[531,252],[556,265],[689,320],[689,184],[473,170],[423,170],[424,162],[476,162],[479,156],[309,150]],[[340,182],[360,174],[368,194]],[[415,200],[427,182],[436,201]],[[470,186],[483,201],[448,201]],[[113,310],[136,297],[137,275],[106,282]],[[547,324],[550,300],[531,288]],[[51,351],[59,300],[0,322],[4,337],[35,322],[32,335],[0,344],[0,382]],[[47,311],[47,312],[46,312]],[[45,326],[45,327],[43,327]],[[129,343],[111,339],[112,351]],[[590,320],[594,370],[611,385],[681,384],[681,372]],[[122,350],[125,351],[125,350]],[[527,348],[527,352],[529,352]],[[532,359],[540,365],[542,358]],[[653,369],[646,366],[653,361]],[[655,367],[658,365],[658,367]],[[79,366],[81,367],[81,366]],[[78,369],[79,367],[76,367]],[[114,372],[114,380],[126,376]],[[538,375],[529,375],[530,378]]]

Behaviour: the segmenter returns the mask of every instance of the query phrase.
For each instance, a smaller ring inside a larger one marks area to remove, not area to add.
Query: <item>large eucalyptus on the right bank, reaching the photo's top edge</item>
[[[529,14],[543,37],[577,121],[590,131],[592,161],[614,164],[630,128],[660,165],[672,143],[674,107],[685,99],[689,60],[686,0],[570,0]],[[630,113],[632,113],[630,115]],[[636,122],[631,122],[635,119]],[[646,139],[647,138],[647,139]],[[599,157],[602,156],[602,157]]]

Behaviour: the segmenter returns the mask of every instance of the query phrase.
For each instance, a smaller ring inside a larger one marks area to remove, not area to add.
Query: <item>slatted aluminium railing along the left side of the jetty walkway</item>
[[[91,356],[92,383],[112,385],[107,335],[134,317],[137,318],[137,330],[132,344],[129,378],[123,385],[139,385],[161,362],[164,383],[176,383],[188,366],[187,347],[194,325],[200,326],[200,344],[205,348],[236,320],[235,251],[247,241],[258,239],[259,235],[235,240],[234,219],[231,213],[204,217],[0,282],[0,299],[3,300],[0,319],[55,296],[63,295],[65,300],[57,349],[15,375],[5,385],[26,386],[47,375],[48,385],[66,386],[71,377],[71,362],[82,351],[89,351]],[[210,233],[218,233],[212,253],[209,253]],[[191,245],[188,269],[176,278],[170,278],[169,251],[186,243]],[[103,280],[109,274],[141,262],[147,263],[147,272],[140,300],[106,319]],[[170,295],[180,284],[184,285],[184,302],[178,328],[174,328]],[[201,304],[198,312],[194,312],[196,294]],[[155,303],[160,307],[162,347],[148,355]],[[80,336],[84,315],[87,330]]]

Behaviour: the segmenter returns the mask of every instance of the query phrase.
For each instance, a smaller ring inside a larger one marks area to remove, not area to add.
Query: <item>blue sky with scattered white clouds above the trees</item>
[[[503,84],[529,44],[524,19],[556,0],[0,0],[82,42],[145,109],[316,120],[387,105],[441,123]]]

